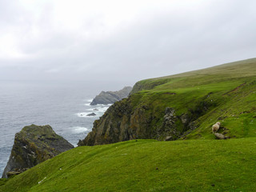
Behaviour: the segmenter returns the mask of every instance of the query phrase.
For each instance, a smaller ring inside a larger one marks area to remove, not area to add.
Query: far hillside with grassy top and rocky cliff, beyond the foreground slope
[[[230,138],[256,136],[256,59],[137,82],[78,145],[130,139],[214,138],[221,122]]]

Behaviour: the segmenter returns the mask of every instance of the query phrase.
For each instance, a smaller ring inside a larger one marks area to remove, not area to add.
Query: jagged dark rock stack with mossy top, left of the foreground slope
[[[14,146],[2,178],[20,174],[49,158],[74,148],[50,126],[25,126],[15,134]]]

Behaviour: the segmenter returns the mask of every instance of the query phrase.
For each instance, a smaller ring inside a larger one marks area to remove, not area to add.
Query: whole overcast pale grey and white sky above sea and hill
[[[118,82],[256,57],[254,0],[0,0],[0,79]]]

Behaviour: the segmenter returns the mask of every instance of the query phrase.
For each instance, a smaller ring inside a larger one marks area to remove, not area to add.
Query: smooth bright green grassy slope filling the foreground
[[[81,146],[0,191],[253,191],[255,151],[256,138]]]

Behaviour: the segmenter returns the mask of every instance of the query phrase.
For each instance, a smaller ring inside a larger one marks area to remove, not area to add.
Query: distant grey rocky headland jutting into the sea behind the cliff
[[[91,106],[95,106],[98,104],[113,104],[114,102],[118,102],[122,100],[122,98],[127,98],[130,94],[130,91],[132,90],[132,87],[126,86],[122,90],[118,91],[102,91],[100,94],[98,94],[94,100],[90,103]]]

